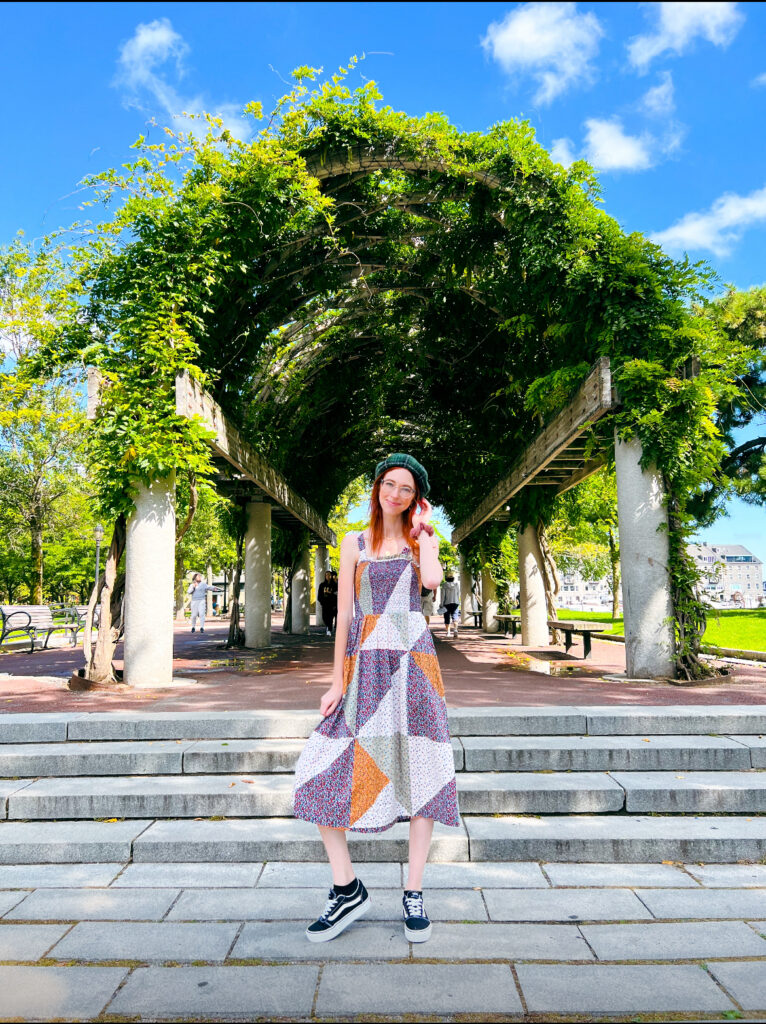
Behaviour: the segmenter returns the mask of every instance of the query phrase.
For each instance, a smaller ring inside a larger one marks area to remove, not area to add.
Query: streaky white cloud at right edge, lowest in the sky
[[[672,252],[705,249],[727,256],[748,227],[766,221],[766,185],[750,196],[726,193],[709,210],[687,213],[652,240]]]

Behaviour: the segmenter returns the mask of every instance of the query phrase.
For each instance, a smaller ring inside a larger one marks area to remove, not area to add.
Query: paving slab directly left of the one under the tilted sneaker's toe
[[[222,962],[237,938],[239,928],[236,923],[87,921],[75,925],[48,955],[62,961]]]

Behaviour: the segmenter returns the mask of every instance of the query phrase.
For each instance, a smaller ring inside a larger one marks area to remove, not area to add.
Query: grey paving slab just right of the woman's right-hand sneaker
[[[622,889],[484,889],[491,921],[647,921],[641,900]]]

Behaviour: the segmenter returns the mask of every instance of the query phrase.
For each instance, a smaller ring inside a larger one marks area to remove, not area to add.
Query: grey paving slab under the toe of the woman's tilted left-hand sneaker
[[[405,938],[400,923],[391,925],[361,920],[332,942],[309,942],[305,934],[309,924],[308,919],[301,922],[248,923],[231,950],[230,958],[332,962],[407,959],[410,956],[410,943]]]

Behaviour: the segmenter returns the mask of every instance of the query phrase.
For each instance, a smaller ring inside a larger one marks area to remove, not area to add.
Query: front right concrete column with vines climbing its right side
[[[626,672],[631,679],[675,675],[668,513],[659,473],[640,466],[641,442],[615,440]]]

